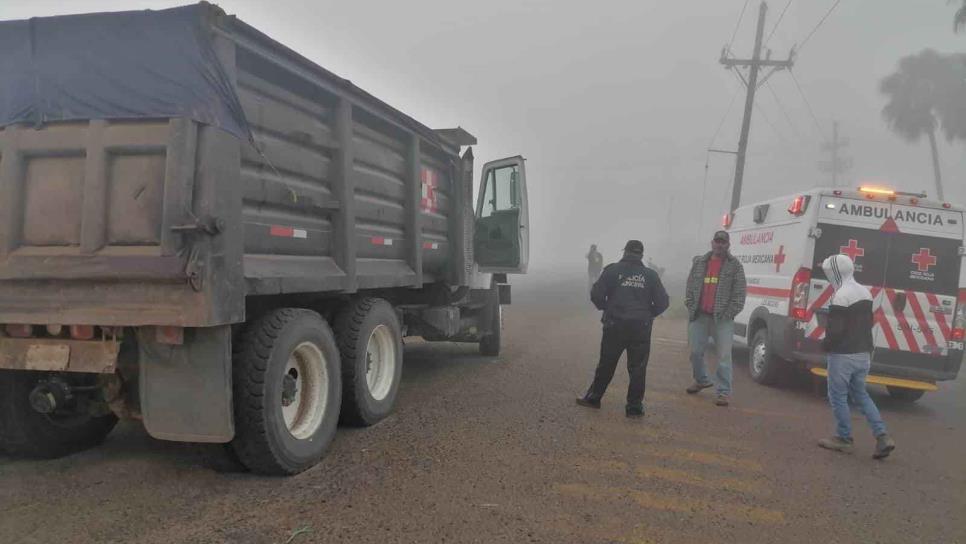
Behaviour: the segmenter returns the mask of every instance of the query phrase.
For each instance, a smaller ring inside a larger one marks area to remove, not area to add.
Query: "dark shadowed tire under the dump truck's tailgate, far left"
[[[0,450],[10,455],[55,459],[97,446],[117,425],[114,414],[47,415],[30,406],[29,395],[46,373],[19,370],[0,372]],[[85,380],[88,375],[67,376]],[[81,385],[81,384],[78,384]]]

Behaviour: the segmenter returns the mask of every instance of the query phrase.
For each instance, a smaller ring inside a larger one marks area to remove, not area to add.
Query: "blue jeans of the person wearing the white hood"
[[[878,437],[886,432],[879,409],[865,389],[865,377],[869,375],[872,361],[868,353],[828,354],[828,403],[835,415],[835,432],[840,438],[852,439],[852,416],[849,413],[849,396]]]

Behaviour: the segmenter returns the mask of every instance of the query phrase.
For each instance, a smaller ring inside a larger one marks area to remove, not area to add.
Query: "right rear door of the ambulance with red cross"
[[[876,322],[885,346],[877,346],[874,362],[903,367],[916,374],[947,371],[953,320],[959,294],[963,240],[958,211],[892,205],[884,226],[891,231],[883,286],[884,300]]]

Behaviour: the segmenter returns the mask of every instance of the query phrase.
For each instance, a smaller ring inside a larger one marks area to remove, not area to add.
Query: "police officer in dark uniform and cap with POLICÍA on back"
[[[594,283],[590,299],[603,310],[604,334],[594,383],[577,404],[600,408],[600,399],[614,377],[617,361],[627,351],[627,417],[644,415],[644,382],[651,352],[651,324],[668,307],[667,291],[657,272],[644,266],[644,244],[630,240],[624,257],[607,265]]]

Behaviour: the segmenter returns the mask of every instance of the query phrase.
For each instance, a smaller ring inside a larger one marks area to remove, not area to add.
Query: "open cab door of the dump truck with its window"
[[[473,251],[481,272],[527,271],[530,224],[523,157],[483,165]]]

